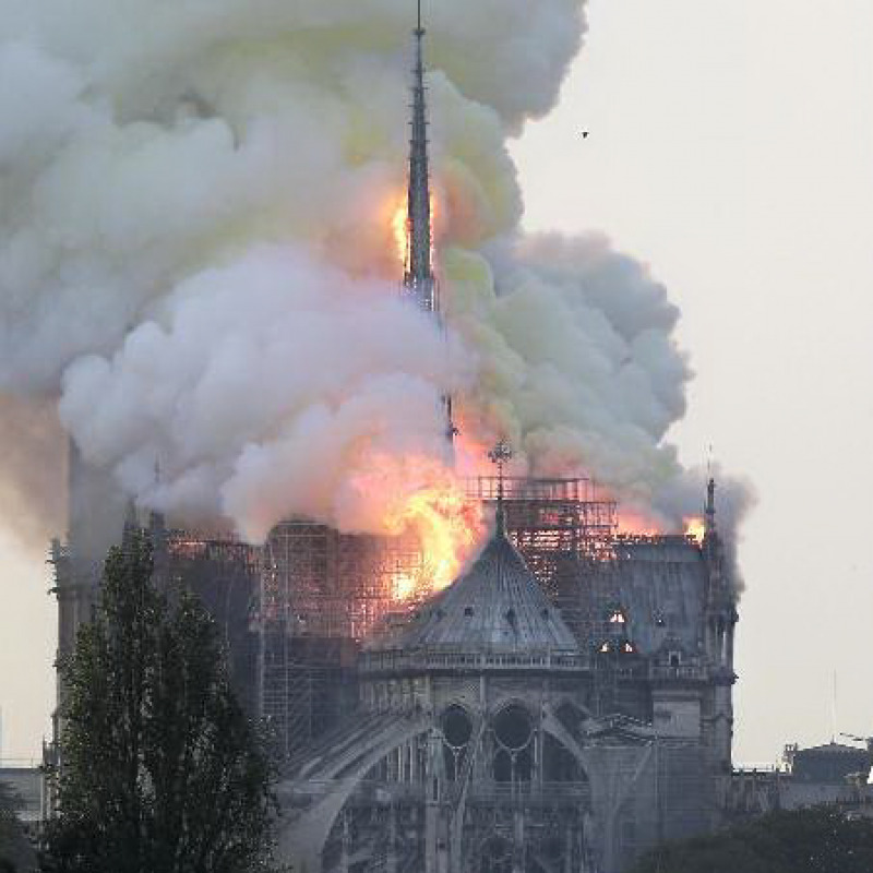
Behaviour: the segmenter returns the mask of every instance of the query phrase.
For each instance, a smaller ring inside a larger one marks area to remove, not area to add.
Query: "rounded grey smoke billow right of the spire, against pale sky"
[[[450,263],[468,285],[455,318],[490,351],[473,407],[495,407],[534,473],[587,468],[650,501],[678,470],[661,440],[689,379],[665,289],[598,237],[533,238],[488,264],[468,253]]]

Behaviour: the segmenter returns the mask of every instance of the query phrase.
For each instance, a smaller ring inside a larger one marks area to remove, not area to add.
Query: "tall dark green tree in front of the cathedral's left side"
[[[58,873],[265,870],[275,802],[265,738],[230,687],[216,626],[190,594],[153,583],[128,530],[100,607],[61,665]]]

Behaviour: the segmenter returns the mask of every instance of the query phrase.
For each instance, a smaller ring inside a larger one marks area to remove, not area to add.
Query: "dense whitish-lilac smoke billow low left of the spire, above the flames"
[[[62,420],[128,493],[252,539],[288,513],[335,521],[368,458],[439,457],[440,392],[474,373],[394,287],[292,248],[199,273],[163,309],[110,360],[70,364]]]

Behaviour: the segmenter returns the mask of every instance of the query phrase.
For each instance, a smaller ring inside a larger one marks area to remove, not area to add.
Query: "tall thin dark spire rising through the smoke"
[[[416,65],[412,70],[412,121],[409,142],[409,192],[407,222],[409,256],[404,288],[428,312],[439,314],[436,287],[433,280],[431,247],[433,229],[430,214],[430,167],[428,160],[428,110],[424,92],[424,34],[421,24],[421,0],[418,0]]]

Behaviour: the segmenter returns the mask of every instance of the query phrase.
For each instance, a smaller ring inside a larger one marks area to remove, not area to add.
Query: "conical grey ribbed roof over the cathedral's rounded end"
[[[392,642],[407,649],[578,650],[501,525],[473,566],[422,606]]]

